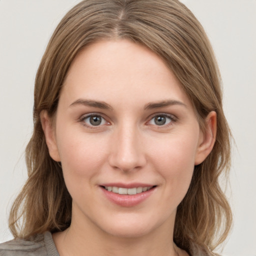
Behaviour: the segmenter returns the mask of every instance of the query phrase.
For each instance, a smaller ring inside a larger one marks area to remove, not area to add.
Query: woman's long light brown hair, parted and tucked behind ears
[[[230,167],[231,133],[209,40],[199,21],[178,0],[84,0],[60,21],[35,78],[34,128],[26,147],[28,179],[12,205],[9,228],[14,237],[27,238],[70,225],[72,199],[61,164],[48,153],[39,115],[46,110],[54,116],[67,70],[77,53],[89,43],[113,38],[140,43],[165,61],[190,98],[201,130],[207,114],[217,113],[215,144],[194,167],[189,189],[177,207],[173,234],[175,243],[187,252],[196,248],[214,255],[232,221],[219,185],[220,174],[227,174]]]

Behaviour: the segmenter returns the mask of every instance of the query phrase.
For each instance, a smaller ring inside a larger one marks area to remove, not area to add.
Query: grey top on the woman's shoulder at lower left
[[[0,256],[59,256],[51,233],[30,236],[28,240],[16,238],[0,244]]]

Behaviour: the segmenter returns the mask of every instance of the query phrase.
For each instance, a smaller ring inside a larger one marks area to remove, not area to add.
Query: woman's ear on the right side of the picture
[[[217,131],[217,114],[215,111],[208,113],[205,118],[205,132],[200,131],[200,137],[195,154],[194,165],[200,164],[210,153],[215,143]]]

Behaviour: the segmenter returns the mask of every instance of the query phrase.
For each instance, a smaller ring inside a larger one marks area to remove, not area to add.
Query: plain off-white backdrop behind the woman
[[[0,242],[26,179],[33,81],[53,29],[78,0],[0,0]],[[236,142],[227,196],[234,224],[222,255],[256,255],[256,0],[183,0],[204,26],[223,79]],[[230,192],[231,191],[231,192]]]

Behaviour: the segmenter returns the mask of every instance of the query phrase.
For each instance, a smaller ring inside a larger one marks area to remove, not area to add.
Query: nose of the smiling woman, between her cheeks
[[[108,161],[113,168],[122,171],[138,170],[146,164],[145,148],[138,129],[131,126],[116,129]]]

